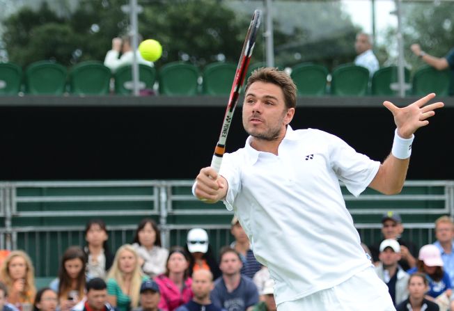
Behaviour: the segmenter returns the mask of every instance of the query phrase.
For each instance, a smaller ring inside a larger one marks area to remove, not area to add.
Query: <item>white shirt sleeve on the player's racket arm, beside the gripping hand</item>
[[[238,154],[235,154],[238,156]],[[227,180],[228,190],[226,198],[223,200],[226,208],[231,211],[235,204],[235,198],[241,190],[240,168],[235,165],[235,156],[233,154],[224,154],[219,175]]]

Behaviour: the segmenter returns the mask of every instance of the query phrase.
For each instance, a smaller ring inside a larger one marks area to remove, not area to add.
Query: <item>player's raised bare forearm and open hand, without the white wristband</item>
[[[429,94],[418,99],[413,104],[399,108],[391,102],[384,102],[383,105],[393,113],[394,122],[397,127],[397,134],[400,138],[412,138],[414,132],[429,124],[428,118],[435,115],[435,109],[444,106],[442,102],[428,104],[435,94]],[[377,175],[370,187],[384,194],[396,194],[402,190],[407,175],[409,157],[407,159],[398,159],[391,152],[389,157],[380,166]]]

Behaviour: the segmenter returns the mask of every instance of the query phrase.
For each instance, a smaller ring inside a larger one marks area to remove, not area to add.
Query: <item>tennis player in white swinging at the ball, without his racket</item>
[[[414,132],[444,104],[427,104],[435,94],[404,108],[384,102],[397,129],[391,154],[380,164],[324,131],[293,130],[296,87],[285,72],[257,70],[245,89],[246,145],[224,155],[219,175],[202,168],[194,195],[223,200],[234,210],[275,281],[279,311],[395,310],[361,248],[339,180],[354,196],[367,186],[399,193]]]

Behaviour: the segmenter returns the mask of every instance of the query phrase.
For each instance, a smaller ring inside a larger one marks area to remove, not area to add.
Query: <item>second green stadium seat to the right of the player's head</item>
[[[365,67],[345,64],[334,68],[331,94],[338,96],[363,96],[368,93],[369,70]]]

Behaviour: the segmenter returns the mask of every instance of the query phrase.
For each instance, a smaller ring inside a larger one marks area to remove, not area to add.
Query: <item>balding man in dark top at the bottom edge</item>
[[[192,274],[192,292],[194,297],[189,303],[180,306],[176,311],[223,311],[210,300],[213,289],[213,275],[209,270],[199,269]]]

